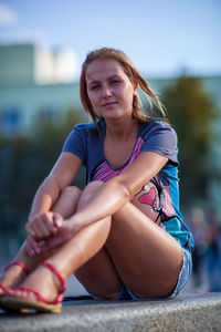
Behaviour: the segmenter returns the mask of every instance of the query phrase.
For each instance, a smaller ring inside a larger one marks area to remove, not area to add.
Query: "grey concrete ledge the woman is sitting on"
[[[221,331],[221,293],[182,294],[168,301],[71,300],[60,314],[6,314],[1,332]]]

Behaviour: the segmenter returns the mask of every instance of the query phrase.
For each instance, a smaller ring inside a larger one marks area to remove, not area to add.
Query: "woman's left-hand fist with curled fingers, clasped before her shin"
[[[56,236],[62,224],[63,217],[61,215],[48,211],[30,218],[25,229],[32,239],[39,241]]]

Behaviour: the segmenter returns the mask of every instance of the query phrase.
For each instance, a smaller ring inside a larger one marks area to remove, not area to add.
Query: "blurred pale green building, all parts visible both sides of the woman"
[[[148,80],[162,91],[170,80]],[[221,76],[202,77],[204,90],[221,110]],[[0,45],[0,134],[32,133],[41,121],[59,121],[67,110],[82,111],[76,61],[72,51],[52,52],[34,44]],[[83,114],[83,112],[81,112]],[[221,114],[208,155],[210,201],[221,197]]]

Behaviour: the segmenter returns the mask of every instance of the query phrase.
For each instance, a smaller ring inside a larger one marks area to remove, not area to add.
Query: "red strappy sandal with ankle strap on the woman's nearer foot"
[[[44,261],[41,263],[41,266],[51,270],[61,282],[61,288],[55,300],[50,302],[33,289],[29,289],[25,287],[15,287],[8,290],[7,294],[2,298],[1,308],[3,310],[19,310],[20,312],[29,312],[30,310],[51,313],[61,312],[61,302],[63,300],[63,293],[66,290],[64,279],[62,278],[61,273],[54,268],[54,266],[52,266],[50,262]],[[34,294],[36,300],[29,300],[25,297],[19,295],[18,292],[20,291]]]

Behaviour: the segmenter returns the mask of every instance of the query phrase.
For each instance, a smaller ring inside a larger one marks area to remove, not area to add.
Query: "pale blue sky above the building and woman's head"
[[[0,43],[122,49],[146,75],[221,74],[221,0],[0,0]]]

